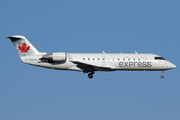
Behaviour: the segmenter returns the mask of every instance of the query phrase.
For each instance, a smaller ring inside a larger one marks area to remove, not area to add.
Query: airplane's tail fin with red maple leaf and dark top
[[[19,56],[37,55],[39,51],[24,36],[8,36],[11,39]]]

